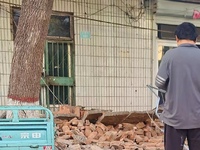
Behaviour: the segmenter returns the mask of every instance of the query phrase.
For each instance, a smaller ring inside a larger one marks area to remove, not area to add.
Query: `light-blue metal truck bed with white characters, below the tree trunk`
[[[12,111],[10,119],[0,119],[0,150],[54,150],[52,112],[41,106],[0,106]],[[19,118],[20,110],[39,110],[44,118]]]

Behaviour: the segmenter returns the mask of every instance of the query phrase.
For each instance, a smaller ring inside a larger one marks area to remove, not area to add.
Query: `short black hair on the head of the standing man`
[[[178,25],[175,35],[180,40],[191,40],[194,42],[198,37],[195,25],[189,22],[183,22],[182,24]]]

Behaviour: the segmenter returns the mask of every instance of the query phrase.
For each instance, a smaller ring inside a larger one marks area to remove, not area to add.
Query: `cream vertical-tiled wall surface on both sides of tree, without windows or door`
[[[4,1],[20,3],[20,0]],[[126,5],[121,0],[84,2],[55,0],[53,10],[136,27],[152,27],[147,12],[140,21],[130,24],[123,12],[127,10]],[[132,15],[137,15],[140,0],[126,2],[136,8]],[[8,4],[2,5],[10,10]],[[1,9],[0,20],[0,99],[5,104],[13,41],[10,14]],[[152,32],[78,18],[74,25],[76,104],[114,111],[151,109],[152,94],[145,86],[152,83]],[[91,38],[81,39],[82,31],[90,32]]]

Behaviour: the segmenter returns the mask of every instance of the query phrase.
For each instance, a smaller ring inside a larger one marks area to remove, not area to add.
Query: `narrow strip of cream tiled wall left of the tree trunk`
[[[5,104],[9,85],[10,64],[12,60],[13,41],[11,38],[10,14],[2,5],[0,9],[0,103]]]

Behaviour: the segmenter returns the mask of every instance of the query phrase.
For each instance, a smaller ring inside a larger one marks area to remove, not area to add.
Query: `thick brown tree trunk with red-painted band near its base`
[[[53,0],[22,0],[8,98],[10,105],[35,104],[39,100],[42,59]]]

